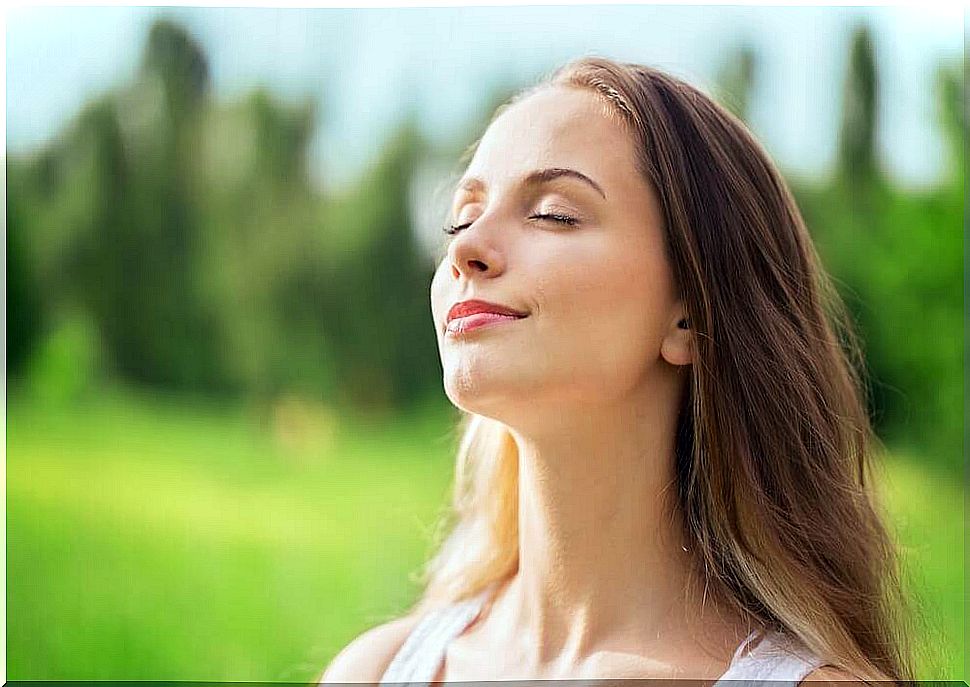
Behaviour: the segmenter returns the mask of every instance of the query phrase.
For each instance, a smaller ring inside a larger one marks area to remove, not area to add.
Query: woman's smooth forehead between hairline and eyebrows
[[[514,183],[548,167],[577,169],[604,187],[617,187],[634,171],[633,143],[608,103],[596,94],[546,88],[492,122],[464,176],[492,186]]]

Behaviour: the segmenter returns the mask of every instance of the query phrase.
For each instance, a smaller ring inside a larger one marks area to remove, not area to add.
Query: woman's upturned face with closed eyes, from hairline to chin
[[[431,282],[452,403],[499,420],[612,403],[689,362],[657,201],[596,95],[555,87],[519,101],[462,179],[450,219],[468,226],[448,237]],[[525,317],[450,330],[452,306],[471,299]]]

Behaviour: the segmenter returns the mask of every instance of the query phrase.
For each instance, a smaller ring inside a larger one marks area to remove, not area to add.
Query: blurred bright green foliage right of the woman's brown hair
[[[838,173],[796,185],[799,205],[866,346],[871,414],[891,445],[963,465],[964,65],[936,78],[945,182],[898,188],[875,149],[877,69],[865,27],[852,40]],[[854,95],[853,95],[854,94]]]

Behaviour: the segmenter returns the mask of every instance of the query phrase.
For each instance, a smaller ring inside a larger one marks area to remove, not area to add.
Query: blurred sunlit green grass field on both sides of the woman
[[[452,474],[447,410],[262,417],[10,397],[8,679],[310,681],[414,598]],[[941,656],[920,677],[965,679],[960,484],[916,457],[890,467]]]

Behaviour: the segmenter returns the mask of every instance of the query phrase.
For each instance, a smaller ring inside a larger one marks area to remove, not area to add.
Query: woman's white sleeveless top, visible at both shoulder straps
[[[427,613],[394,655],[380,684],[430,685],[441,669],[448,643],[478,616],[493,588],[494,585],[470,599]],[[771,680],[778,682],[778,687],[795,687],[806,675],[824,665],[801,642],[777,631],[765,634],[753,649],[744,652],[757,634],[752,632],[741,642],[727,671],[713,687],[733,687],[728,680]]]

